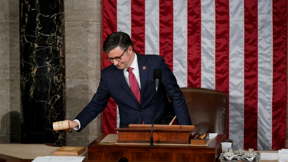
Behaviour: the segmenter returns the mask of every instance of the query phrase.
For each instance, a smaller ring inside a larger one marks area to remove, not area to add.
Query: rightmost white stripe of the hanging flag
[[[258,149],[272,148],[272,0],[258,0]]]

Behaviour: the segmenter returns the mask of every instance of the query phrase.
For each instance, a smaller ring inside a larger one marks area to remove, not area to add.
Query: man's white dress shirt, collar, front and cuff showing
[[[134,52],[134,60],[133,60],[133,62],[132,62],[132,64],[131,64],[130,67],[133,68],[132,73],[134,73],[134,75],[135,75],[135,77],[136,77],[136,80],[137,80],[137,83],[138,83],[138,85],[139,85],[139,88],[140,88],[140,90],[141,90],[138,60],[137,60],[137,55],[136,55],[135,52]],[[123,73],[124,73],[126,82],[127,82],[128,86],[129,86],[129,88],[130,88],[128,68],[123,69]],[[74,128],[74,129],[77,131],[78,129],[80,129],[80,122],[79,122],[79,120],[77,120],[77,119],[75,119],[75,120],[73,120],[73,121],[78,122],[78,127]]]

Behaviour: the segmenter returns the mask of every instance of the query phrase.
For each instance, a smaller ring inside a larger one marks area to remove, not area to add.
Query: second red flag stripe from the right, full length
[[[244,0],[244,149],[257,149],[258,1]]]

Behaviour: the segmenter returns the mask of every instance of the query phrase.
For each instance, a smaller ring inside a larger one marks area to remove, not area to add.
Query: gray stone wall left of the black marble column
[[[0,0],[0,143],[20,142],[19,1]]]

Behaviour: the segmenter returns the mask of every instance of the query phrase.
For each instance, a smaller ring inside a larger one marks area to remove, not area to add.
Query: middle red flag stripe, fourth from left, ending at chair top
[[[187,1],[187,86],[201,87],[201,1]]]

